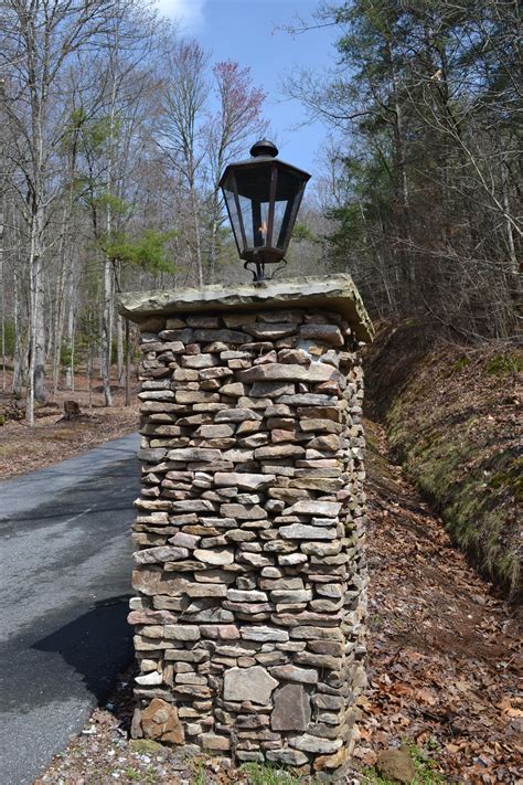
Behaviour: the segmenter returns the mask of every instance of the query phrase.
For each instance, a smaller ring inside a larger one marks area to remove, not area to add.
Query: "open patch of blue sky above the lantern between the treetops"
[[[195,38],[212,61],[235,60],[250,66],[254,83],[268,94],[265,114],[277,132],[280,156],[313,176],[327,130],[306,123],[300,104],[282,94],[286,73],[332,65],[335,51],[331,30],[292,38],[279,30],[296,14],[311,19],[320,0],[157,0],[160,12],[179,20],[181,32]]]

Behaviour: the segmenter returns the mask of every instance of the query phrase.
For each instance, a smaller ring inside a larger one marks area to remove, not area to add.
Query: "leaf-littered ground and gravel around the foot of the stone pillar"
[[[521,618],[388,462],[383,428],[369,422],[367,441],[370,683],[360,701],[354,768],[344,782],[385,783],[373,768],[377,754],[407,744],[417,785],[519,783]],[[121,675],[107,706],[35,785],[299,782],[130,741],[132,677]]]

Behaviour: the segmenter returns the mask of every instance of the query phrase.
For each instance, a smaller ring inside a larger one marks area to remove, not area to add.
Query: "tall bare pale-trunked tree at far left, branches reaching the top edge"
[[[56,197],[53,155],[61,138],[61,84],[68,57],[107,30],[107,0],[2,0],[0,70],[7,72],[4,112],[17,140],[29,227],[30,368],[26,418],[45,400],[44,253],[46,216]]]

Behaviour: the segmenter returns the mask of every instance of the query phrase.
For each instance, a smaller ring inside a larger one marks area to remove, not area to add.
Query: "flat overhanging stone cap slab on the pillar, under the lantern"
[[[372,321],[348,274],[270,280],[256,285],[128,291],[120,295],[118,312],[140,325],[154,316],[259,311],[287,307],[335,311],[349,321],[357,340],[370,342],[374,337]]]

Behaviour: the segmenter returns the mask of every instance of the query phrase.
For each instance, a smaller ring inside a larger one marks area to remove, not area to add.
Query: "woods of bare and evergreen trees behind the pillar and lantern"
[[[515,0],[351,0],[323,74],[286,79],[325,123],[289,274],[349,272],[373,318],[510,342],[521,305],[521,19]],[[247,279],[217,181],[270,134],[248,63],[214,63],[139,0],[0,2],[3,389],[78,369],[121,381],[119,291]]]

